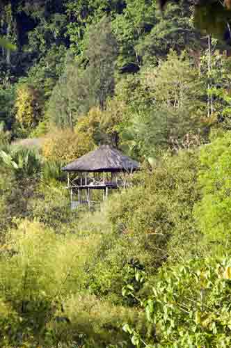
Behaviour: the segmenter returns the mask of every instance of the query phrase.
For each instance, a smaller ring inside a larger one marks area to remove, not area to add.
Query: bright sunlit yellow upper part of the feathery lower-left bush
[[[53,301],[77,292],[92,246],[75,235],[56,235],[36,221],[20,222],[2,248],[8,253],[0,262],[1,298],[20,306],[22,301]]]

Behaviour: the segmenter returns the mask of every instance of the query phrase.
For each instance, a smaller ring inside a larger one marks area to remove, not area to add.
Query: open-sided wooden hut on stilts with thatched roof
[[[67,189],[70,189],[72,207],[93,203],[92,190],[102,190],[103,200],[109,196],[109,190],[126,185],[125,174],[137,171],[137,161],[122,154],[110,145],[102,145],[97,150],[72,161],[62,170],[67,172]],[[78,200],[74,200],[74,196]]]

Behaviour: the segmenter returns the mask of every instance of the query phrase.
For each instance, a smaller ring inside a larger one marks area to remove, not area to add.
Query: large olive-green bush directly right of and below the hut
[[[193,253],[187,242],[196,241],[198,235],[193,219],[200,193],[197,167],[196,152],[165,155],[153,171],[134,176],[137,187],[111,200],[108,219],[114,230],[137,239],[143,251],[152,254],[155,267],[169,256],[175,259]]]

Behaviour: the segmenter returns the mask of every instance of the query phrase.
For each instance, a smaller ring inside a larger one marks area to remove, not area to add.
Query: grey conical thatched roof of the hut
[[[131,172],[138,168],[138,162],[109,145],[102,145],[97,150],[83,155],[77,161],[67,164],[62,170],[69,172]]]

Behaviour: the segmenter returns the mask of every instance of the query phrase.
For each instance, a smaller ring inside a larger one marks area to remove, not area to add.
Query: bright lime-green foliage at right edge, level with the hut
[[[224,244],[229,242],[230,230],[230,140],[231,134],[227,132],[202,148],[199,174],[202,199],[195,208],[205,236]]]

